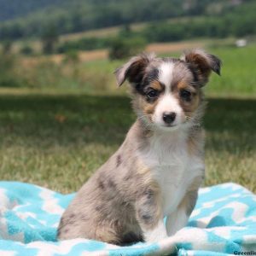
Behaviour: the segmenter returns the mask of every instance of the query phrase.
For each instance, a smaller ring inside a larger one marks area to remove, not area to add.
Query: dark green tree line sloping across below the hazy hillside
[[[256,3],[253,3],[227,12],[218,18],[200,16],[176,21],[151,22],[139,32],[132,31],[131,26],[126,25],[116,36],[68,41],[57,44],[55,51],[67,53],[72,50],[118,48],[129,54],[127,49],[136,47],[136,45],[141,49],[143,45],[155,42],[174,42],[192,38],[246,37],[256,34],[255,8]]]

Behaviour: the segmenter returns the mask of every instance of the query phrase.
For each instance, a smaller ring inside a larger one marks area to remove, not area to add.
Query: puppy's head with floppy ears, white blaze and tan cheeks
[[[131,84],[133,107],[148,127],[167,131],[192,123],[201,106],[201,87],[221,61],[201,49],[180,59],[139,55],[116,70],[118,84]]]

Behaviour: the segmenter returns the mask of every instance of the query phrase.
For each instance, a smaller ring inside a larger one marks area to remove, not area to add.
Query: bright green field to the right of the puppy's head
[[[244,48],[218,47],[209,49],[223,61],[222,75],[212,76],[207,93],[215,96],[256,96],[256,44]]]

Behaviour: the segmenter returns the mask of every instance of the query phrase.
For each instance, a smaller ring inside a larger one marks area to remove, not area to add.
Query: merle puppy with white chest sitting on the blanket
[[[137,120],[67,207],[60,240],[154,242],[187,224],[204,177],[201,88],[220,66],[195,49],[180,59],[139,55],[116,70],[119,85],[130,83]]]

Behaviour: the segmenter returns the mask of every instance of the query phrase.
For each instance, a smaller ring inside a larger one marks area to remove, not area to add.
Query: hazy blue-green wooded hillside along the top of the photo
[[[194,15],[222,15],[250,0],[0,0],[0,39],[58,34]]]

